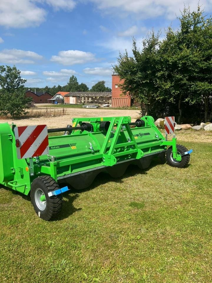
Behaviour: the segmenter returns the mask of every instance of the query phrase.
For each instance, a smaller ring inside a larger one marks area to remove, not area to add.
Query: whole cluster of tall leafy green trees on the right
[[[131,94],[142,114],[177,117],[178,123],[212,120],[212,18],[198,5],[184,7],[179,29],[152,31],[139,49],[132,39],[133,57],[127,51],[114,71],[124,79],[123,94]]]

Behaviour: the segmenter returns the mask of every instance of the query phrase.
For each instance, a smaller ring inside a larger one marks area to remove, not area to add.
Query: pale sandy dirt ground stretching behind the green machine
[[[72,124],[72,118],[78,117],[118,117],[130,116],[132,119],[138,119],[139,110],[112,110],[112,109],[86,109],[86,108],[67,108],[67,115],[59,117],[39,117],[28,119],[2,119],[1,123],[14,122],[17,126],[46,124],[49,128],[64,127]]]

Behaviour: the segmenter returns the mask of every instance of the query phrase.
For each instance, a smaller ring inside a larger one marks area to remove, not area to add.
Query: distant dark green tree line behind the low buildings
[[[27,87],[26,90],[34,90],[34,88]],[[75,91],[111,91],[111,88],[108,88],[105,86],[105,81],[98,81],[95,85],[92,86],[92,88],[88,88],[88,86],[85,83],[78,83],[77,77],[72,75],[69,78],[69,82],[67,85],[54,85],[53,87],[45,86],[44,88],[36,88],[37,91],[46,91],[50,93],[52,96],[54,96],[59,91],[67,91],[67,92],[75,92]]]

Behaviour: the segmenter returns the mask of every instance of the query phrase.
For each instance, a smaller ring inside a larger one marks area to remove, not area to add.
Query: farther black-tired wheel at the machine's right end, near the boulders
[[[183,154],[188,151],[186,147],[181,144],[177,144],[177,152],[178,154]],[[176,161],[173,159],[172,147],[169,147],[166,151],[166,161],[170,166],[184,168],[190,160],[190,154],[186,154],[182,156],[181,161]]]

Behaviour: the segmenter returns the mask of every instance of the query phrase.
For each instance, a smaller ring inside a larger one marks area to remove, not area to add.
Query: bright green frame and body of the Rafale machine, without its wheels
[[[74,118],[72,126],[48,129],[49,133],[66,132],[59,136],[49,135],[47,155],[18,159],[15,127],[0,124],[0,183],[24,195],[29,194],[32,182],[38,177],[49,176],[57,183],[68,183],[81,189],[89,186],[101,171],[119,177],[125,172],[127,164],[148,167],[153,156],[165,158],[167,146],[170,146],[174,164],[180,164],[191,153],[187,149],[183,152],[178,150],[175,136],[171,140],[165,139],[155,126],[153,117],[144,116],[131,123],[130,117],[123,116]],[[143,165],[145,160],[147,164]],[[80,178],[81,174],[85,178]]]

